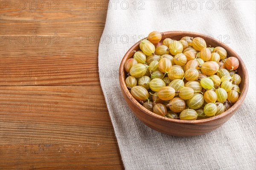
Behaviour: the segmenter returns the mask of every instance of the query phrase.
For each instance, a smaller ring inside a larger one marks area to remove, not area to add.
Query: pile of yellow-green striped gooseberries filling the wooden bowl
[[[125,62],[125,84],[149,111],[170,119],[217,116],[239,98],[239,60],[201,37],[166,38],[153,31]]]

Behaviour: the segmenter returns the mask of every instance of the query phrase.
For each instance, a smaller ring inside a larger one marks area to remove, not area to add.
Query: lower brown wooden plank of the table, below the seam
[[[99,85],[0,87],[0,169],[122,169]]]

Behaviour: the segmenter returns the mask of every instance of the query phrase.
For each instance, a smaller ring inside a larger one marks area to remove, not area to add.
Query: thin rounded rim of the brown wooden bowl
[[[190,31],[166,31],[166,32],[161,32],[162,35],[165,34],[194,34],[197,37],[209,37],[205,34],[200,34],[200,33],[196,33],[196,32],[190,32]],[[145,37],[144,39],[146,39],[147,37]],[[181,124],[202,124],[202,123],[206,123],[206,122],[212,122],[212,121],[216,121],[218,119],[222,119],[223,117],[235,112],[242,104],[242,102],[244,101],[244,98],[247,94],[248,91],[248,83],[249,83],[249,78],[248,78],[248,73],[247,73],[247,69],[246,66],[243,62],[243,60],[241,59],[241,57],[239,57],[239,55],[232,49],[230,48],[228,45],[224,44],[223,42],[211,37],[211,40],[213,42],[215,42],[216,44],[218,44],[218,46],[223,47],[227,53],[233,53],[235,54],[234,56],[230,56],[230,57],[236,57],[237,59],[239,59],[239,67],[242,67],[242,72],[244,72],[244,77],[242,77],[244,79],[244,88],[242,93],[239,96],[239,99],[236,101],[236,103],[229,108],[227,111],[224,111],[223,113],[217,115],[217,116],[213,116],[207,119],[201,119],[201,120],[180,120],[180,119],[170,119],[164,116],[160,116],[157,115],[156,113],[149,111],[148,109],[144,108],[143,105],[141,105],[136,99],[134,99],[134,97],[131,95],[131,93],[128,91],[128,88],[125,85],[125,70],[124,70],[124,64],[125,61],[127,59],[129,59],[129,54],[131,54],[132,51],[134,51],[134,48],[137,47],[137,45],[140,44],[140,41],[136,42],[124,55],[124,57],[122,58],[122,61],[120,63],[120,67],[119,67],[119,83],[120,83],[120,87],[123,89],[123,91],[125,92],[125,94],[128,96],[128,99],[136,106],[139,107],[142,111],[144,111],[145,114],[148,114],[149,116],[152,116],[154,118],[157,119],[161,119],[163,121],[166,122],[172,122],[172,123],[181,123]],[[125,96],[124,96],[125,97]]]

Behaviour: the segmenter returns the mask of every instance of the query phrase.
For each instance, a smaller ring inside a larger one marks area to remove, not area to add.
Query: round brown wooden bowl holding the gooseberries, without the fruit
[[[217,129],[221,125],[223,125],[227,120],[233,116],[233,114],[237,111],[237,109],[241,106],[244,98],[247,94],[248,90],[248,73],[247,69],[244,65],[244,62],[233,51],[230,47],[226,44],[220,42],[219,40],[213,39],[204,34],[198,34],[195,32],[187,32],[187,31],[168,31],[162,33],[162,41],[165,38],[171,38],[173,40],[180,40],[182,37],[189,36],[189,37],[202,37],[206,42],[207,46],[211,45],[211,47],[221,46],[227,51],[228,56],[236,57],[239,60],[239,68],[237,69],[238,74],[241,76],[241,83],[239,85],[240,88],[240,96],[238,101],[227,111],[221,113],[218,116],[214,116],[208,119],[202,120],[179,120],[179,119],[169,119],[163,116],[159,116],[148,109],[144,108],[128,91],[128,88],[125,85],[125,70],[124,65],[125,61],[129,58],[132,58],[134,55],[134,50],[140,50],[139,44],[137,42],[134,44],[125,54],[122,59],[119,68],[119,83],[121,87],[122,94],[127,102],[129,108],[141,122],[143,122],[148,127],[151,127],[154,130],[157,130],[161,133],[166,133],[172,136],[197,136],[202,135],[207,132],[211,132],[212,130]]]

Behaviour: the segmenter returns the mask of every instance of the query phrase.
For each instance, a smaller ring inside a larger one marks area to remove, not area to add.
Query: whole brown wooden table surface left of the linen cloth
[[[122,169],[98,73],[108,1],[0,5],[0,169]]]

